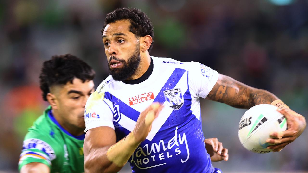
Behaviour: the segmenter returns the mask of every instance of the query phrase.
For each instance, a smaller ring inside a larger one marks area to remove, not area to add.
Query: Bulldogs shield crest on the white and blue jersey
[[[163,91],[165,100],[168,102],[168,105],[173,109],[180,109],[184,103],[184,97],[181,93],[181,89],[172,89]]]

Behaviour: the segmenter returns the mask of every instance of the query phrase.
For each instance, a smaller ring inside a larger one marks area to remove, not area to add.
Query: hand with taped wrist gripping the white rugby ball
[[[266,139],[266,142],[276,145],[269,146],[267,149],[274,149],[273,152],[281,151],[283,147],[293,142],[306,127],[306,120],[302,115],[289,108],[278,109],[278,111],[286,117],[288,130],[270,133],[271,138]]]

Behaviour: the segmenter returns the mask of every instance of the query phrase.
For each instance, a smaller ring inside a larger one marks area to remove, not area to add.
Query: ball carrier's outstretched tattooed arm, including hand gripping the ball
[[[268,147],[274,151],[281,151],[283,147],[298,138],[306,127],[305,117],[291,110],[274,94],[245,85],[222,74],[219,74],[216,84],[206,98],[237,108],[248,109],[258,104],[272,104],[278,107],[278,111],[286,117],[288,130],[270,133],[271,138],[266,142],[275,144]]]

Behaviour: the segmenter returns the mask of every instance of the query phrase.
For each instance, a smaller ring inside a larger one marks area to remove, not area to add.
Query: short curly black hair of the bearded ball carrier
[[[128,19],[131,22],[129,31],[136,36],[143,37],[150,35],[152,38],[154,38],[153,26],[150,22],[150,19],[144,12],[136,8],[118,8],[111,11],[109,14],[107,14],[104,27],[102,30],[100,30],[100,32],[103,34],[107,24],[125,19]],[[153,47],[153,43],[154,41],[152,41],[152,44],[148,49],[149,52]]]

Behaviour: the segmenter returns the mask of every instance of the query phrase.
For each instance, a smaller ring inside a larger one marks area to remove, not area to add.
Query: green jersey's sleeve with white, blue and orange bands
[[[31,136],[35,138],[26,139]],[[35,132],[29,132],[26,138],[23,141],[22,153],[18,162],[18,170],[20,171],[22,166],[32,162],[43,163],[51,168],[51,162],[56,158],[55,151],[51,147],[51,144],[44,141],[43,135],[37,135]]]

